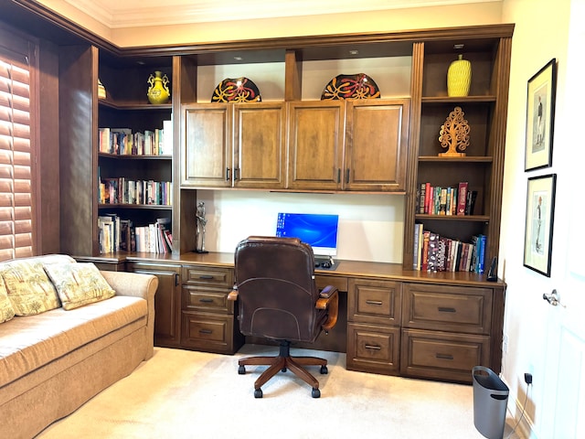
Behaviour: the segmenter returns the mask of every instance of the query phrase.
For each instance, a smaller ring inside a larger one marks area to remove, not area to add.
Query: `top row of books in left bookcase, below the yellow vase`
[[[114,155],[173,155],[171,121],[163,129],[133,132],[130,128],[100,128],[101,153]]]

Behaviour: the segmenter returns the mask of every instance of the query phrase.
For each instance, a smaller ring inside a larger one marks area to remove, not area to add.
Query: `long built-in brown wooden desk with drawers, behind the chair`
[[[154,273],[155,343],[233,354],[247,341],[227,300],[233,254],[141,254],[77,258],[101,269]],[[316,270],[340,294],[340,318],[313,345],[346,352],[347,369],[471,382],[473,366],[500,371],[505,284],[474,273],[406,271],[401,264],[338,261]],[[237,306],[237,305],[236,305]],[[248,340],[261,341],[261,340]]]

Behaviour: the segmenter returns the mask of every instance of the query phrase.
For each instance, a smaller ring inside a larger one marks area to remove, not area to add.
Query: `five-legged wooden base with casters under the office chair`
[[[291,342],[282,341],[278,357],[247,357],[239,359],[239,374],[246,373],[244,366],[269,366],[264,370],[261,376],[254,382],[254,396],[256,398],[262,397],[261,387],[279,370],[285,372],[290,369],[297,377],[309,384],[313,388],[312,395],[314,398],[321,396],[319,391],[319,381],[311,375],[303,366],[321,366],[321,374],[327,373],[327,360],[318,357],[291,357]]]

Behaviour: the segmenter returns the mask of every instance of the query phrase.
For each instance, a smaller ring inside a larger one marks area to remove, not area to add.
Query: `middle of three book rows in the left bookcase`
[[[170,181],[100,178],[100,204],[171,206],[172,199],[173,183]]]

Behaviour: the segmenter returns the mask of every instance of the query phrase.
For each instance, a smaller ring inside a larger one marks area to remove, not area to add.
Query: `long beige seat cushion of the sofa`
[[[0,388],[123,327],[145,325],[147,314],[144,299],[116,295],[74,311],[16,316],[0,325]]]

